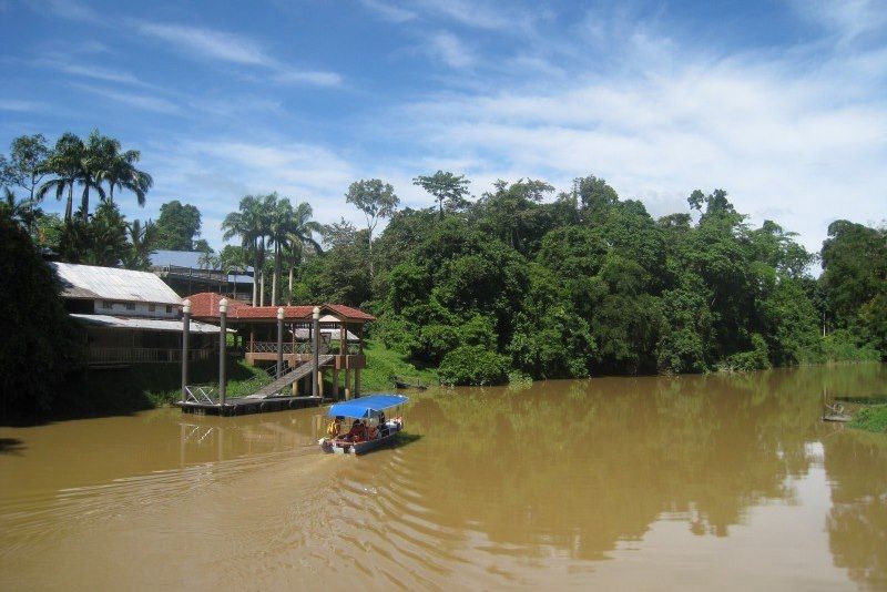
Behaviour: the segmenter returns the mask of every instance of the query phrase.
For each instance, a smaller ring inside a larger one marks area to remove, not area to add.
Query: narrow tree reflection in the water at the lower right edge
[[[887,438],[846,430],[828,438],[829,547],[835,565],[858,583],[887,588]]]

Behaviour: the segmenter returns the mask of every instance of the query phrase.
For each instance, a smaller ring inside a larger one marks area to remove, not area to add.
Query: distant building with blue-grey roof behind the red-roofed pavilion
[[[225,273],[217,264],[208,264],[200,251],[155,251],[150,271],[163,278],[179,295],[208,290],[248,299],[253,289],[253,268]]]

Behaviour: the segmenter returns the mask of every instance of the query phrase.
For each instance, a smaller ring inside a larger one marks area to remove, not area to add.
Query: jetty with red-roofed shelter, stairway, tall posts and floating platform
[[[176,405],[185,414],[236,416],[316,407],[339,400],[340,374],[344,399],[359,396],[360,370],[366,367],[363,325],[375,320],[371,315],[341,305],[249,306],[212,293],[187,298],[182,313],[182,398]],[[188,381],[192,318],[218,321],[215,386]],[[241,384],[235,397],[227,397],[230,341],[254,366],[274,363],[265,368],[267,374]],[[239,348],[238,341],[243,344]],[[328,396],[324,394],[325,376],[332,384]]]

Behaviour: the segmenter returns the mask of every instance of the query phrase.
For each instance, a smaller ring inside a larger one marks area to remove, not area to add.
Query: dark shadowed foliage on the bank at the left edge
[[[80,353],[61,286],[28,234],[0,212],[0,417],[31,416],[55,404],[55,388]],[[49,330],[51,329],[51,330]]]

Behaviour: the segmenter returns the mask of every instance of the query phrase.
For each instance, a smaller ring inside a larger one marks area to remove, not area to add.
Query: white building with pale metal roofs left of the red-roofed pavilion
[[[50,265],[68,312],[83,328],[90,366],[182,361],[182,299],[160,277],[94,265]],[[192,360],[217,353],[217,326],[193,323],[191,333]]]

